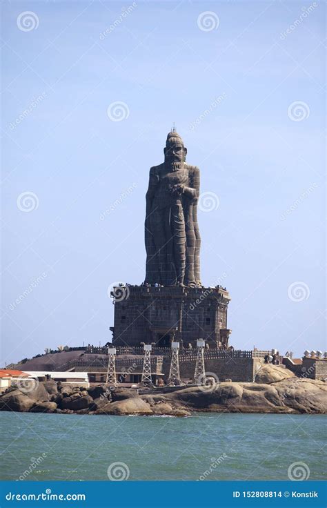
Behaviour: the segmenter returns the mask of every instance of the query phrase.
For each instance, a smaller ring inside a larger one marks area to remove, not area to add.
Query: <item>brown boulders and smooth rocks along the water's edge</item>
[[[85,389],[48,380],[30,391],[8,389],[0,395],[0,411],[181,417],[194,412],[325,414],[327,384],[297,378],[273,365],[261,367],[254,382],[165,387],[143,395],[108,384]]]

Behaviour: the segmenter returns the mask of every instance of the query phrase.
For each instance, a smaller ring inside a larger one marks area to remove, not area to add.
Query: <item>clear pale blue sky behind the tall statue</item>
[[[148,170],[173,121],[214,195],[201,278],[230,291],[230,343],[326,349],[324,10],[3,2],[1,365],[111,338],[108,286],[143,281]]]

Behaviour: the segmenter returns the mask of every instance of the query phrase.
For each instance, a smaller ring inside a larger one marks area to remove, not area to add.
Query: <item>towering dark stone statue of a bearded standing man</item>
[[[186,147],[175,131],[165,160],[150,168],[146,193],[146,280],[163,286],[202,286],[197,222],[199,168],[186,164]]]

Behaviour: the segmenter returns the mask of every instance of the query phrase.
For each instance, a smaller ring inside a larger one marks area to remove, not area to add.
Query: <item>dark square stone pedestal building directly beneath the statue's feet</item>
[[[228,348],[230,296],[226,289],[179,286],[117,286],[111,292],[115,323],[110,328],[115,346],[139,346],[140,342],[170,347],[196,347],[199,338],[210,348]]]

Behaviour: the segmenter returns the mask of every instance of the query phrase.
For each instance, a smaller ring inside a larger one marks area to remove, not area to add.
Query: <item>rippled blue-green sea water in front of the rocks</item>
[[[2,480],[288,480],[297,462],[311,480],[327,478],[324,415],[0,418]]]

